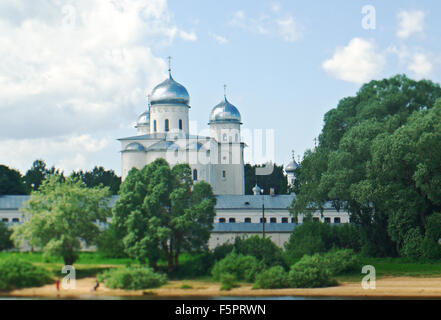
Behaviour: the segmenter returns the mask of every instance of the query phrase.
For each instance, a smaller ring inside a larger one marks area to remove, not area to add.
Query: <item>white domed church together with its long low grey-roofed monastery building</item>
[[[208,113],[208,112],[207,112]],[[288,207],[295,194],[245,195],[244,148],[241,141],[242,119],[239,110],[224,96],[209,114],[210,136],[189,132],[190,96],[169,77],[149,96],[148,108],[137,121],[137,135],[121,138],[122,179],[131,168],[142,169],[155,159],[164,158],[173,166],[188,163],[193,180],[206,181],[217,197],[209,247],[234,242],[236,237],[265,235],[277,245],[289,239],[296,223]],[[292,160],[285,168],[289,184],[299,164]],[[114,196],[112,206],[118,196]],[[22,208],[29,196],[0,196],[0,221],[9,225],[23,222]],[[323,212],[311,212],[314,220],[331,224],[349,222],[349,214],[336,210],[331,203]]]

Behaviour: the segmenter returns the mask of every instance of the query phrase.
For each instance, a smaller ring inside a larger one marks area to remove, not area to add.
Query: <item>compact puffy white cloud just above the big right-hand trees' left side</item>
[[[379,75],[385,63],[384,55],[376,52],[373,41],[354,38],[346,47],[337,48],[322,67],[337,79],[361,84]]]

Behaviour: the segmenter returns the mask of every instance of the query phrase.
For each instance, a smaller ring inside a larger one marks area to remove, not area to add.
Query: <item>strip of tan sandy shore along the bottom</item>
[[[191,286],[182,289],[182,284]],[[385,297],[385,298],[441,298],[441,278],[412,278],[391,277],[377,280],[376,289],[364,290],[360,282],[342,282],[337,287],[318,289],[271,289],[252,290],[250,285],[244,285],[230,291],[221,291],[218,283],[203,281],[170,281],[169,284],[149,290],[115,290],[106,288],[103,284],[93,291],[95,278],[84,278],[76,281],[76,288],[57,292],[55,285],[39,288],[26,288],[0,293],[1,297],[40,297],[66,299],[94,299],[106,297],[144,297],[155,298],[209,298],[217,296],[234,297]]]

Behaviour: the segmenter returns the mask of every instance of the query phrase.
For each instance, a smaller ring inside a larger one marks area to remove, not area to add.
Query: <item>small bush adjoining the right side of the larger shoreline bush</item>
[[[351,249],[331,250],[324,255],[325,267],[331,275],[339,275],[360,269],[358,256]]]

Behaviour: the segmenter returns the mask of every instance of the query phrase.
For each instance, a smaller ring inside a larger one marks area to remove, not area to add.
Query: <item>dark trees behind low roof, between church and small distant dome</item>
[[[261,187],[264,194],[269,194],[273,188],[276,194],[289,193],[288,179],[283,171],[283,166],[274,164],[273,172],[269,175],[256,175],[256,168],[261,165],[245,165],[245,194],[253,194],[253,187],[256,185]]]

